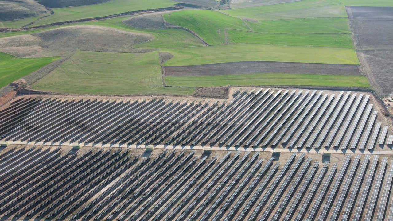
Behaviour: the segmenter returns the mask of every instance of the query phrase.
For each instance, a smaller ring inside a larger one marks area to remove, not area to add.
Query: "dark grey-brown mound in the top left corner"
[[[32,17],[48,11],[35,0],[0,0],[0,21]]]

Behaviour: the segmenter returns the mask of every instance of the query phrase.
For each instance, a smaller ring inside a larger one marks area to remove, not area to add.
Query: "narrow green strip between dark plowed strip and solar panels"
[[[165,84],[178,87],[217,87],[225,85],[308,85],[370,87],[365,76],[324,74],[227,74],[214,76],[166,76]]]

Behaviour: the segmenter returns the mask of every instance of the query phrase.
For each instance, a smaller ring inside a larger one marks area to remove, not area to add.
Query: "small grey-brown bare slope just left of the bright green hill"
[[[164,19],[162,14],[147,14],[140,15],[134,18],[129,18],[123,21],[134,28],[144,28],[144,29],[161,29],[165,28]]]

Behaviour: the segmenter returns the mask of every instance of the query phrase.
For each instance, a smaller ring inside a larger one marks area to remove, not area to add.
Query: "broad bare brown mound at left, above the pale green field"
[[[133,52],[132,46],[153,36],[102,26],[70,26],[0,39],[0,51],[18,57],[70,55],[76,50]]]

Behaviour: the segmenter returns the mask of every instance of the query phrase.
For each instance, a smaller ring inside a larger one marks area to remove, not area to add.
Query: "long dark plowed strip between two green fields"
[[[304,73],[360,75],[358,65],[244,61],[190,66],[163,66],[166,76],[207,76],[244,73]]]

